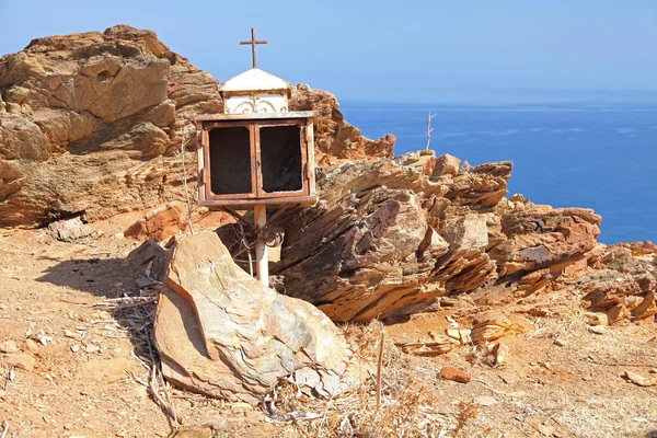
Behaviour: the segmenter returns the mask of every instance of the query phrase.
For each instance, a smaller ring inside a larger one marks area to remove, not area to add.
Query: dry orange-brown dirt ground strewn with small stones
[[[137,216],[94,223],[102,235],[83,243],[55,241],[46,230],[0,231],[3,438],[172,434],[170,416],[140,383],[149,379],[143,336],[153,304],[129,312],[103,309],[113,299],[140,293],[140,273],[125,261],[139,242],[122,234]],[[356,348],[370,358],[380,331],[385,332],[378,413],[373,378],[332,401],[295,401],[293,391],[285,395],[283,388],[279,413],[308,414],[286,422],[260,408],[170,388],[181,428],[187,429],[174,435],[657,437],[657,385],[623,378],[625,371],[657,377],[654,320],[592,333],[580,297],[557,291],[503,309],[523,333],[503,339],[509,351],[502,365],[486,364],[472,345],[437,357],[394,346],[443,334],[453,325],[448,316],[469,326],[483,310],[458,307],[383,326],[347,326],[361,343]],[[472,381],[439,378],[443,366],[458,367]]]

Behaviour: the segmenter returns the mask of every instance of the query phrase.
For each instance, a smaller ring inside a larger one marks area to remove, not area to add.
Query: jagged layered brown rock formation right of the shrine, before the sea
[[[495,284],[526,295],[587,265],[600,233],[592,210],[508,200],[511,163],[450,161],[425,151],[322,169],[320,204],[280,222],[286,293],[335,321],[369,321],[447,296],[485,300]]]

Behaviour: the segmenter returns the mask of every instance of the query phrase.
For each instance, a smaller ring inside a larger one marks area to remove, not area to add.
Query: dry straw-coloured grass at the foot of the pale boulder
[[[411,367],[392,341],[385,342],[381,405],[377,410],[376,367],[383,325],[376,321],[365,326],[348,324],[344,330],[356,359],[367,370],[360,385],[342,397],[320,401],[286,383],[277,391],[277,412],[320,413],[319,418],[296,425],[302,435],[312,437],[447,436],[446,415],[451,414],[438,410],[435,388],[423,383],[435,379],[435,372]]]

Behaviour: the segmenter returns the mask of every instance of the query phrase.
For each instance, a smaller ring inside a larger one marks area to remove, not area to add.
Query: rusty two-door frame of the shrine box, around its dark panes
[[[256,116],[256,117],[254,117]],[[198,192],[199,205],[207,207],[250,207],[258,204],[283,205],[316,203],[314,175],[313,122],[315,112],[292,112],[275,114],[215,114],[195,118],[198,148]],[[262,161],[260,130],[262,127],[298,126],[301,148],[301,189],[295,192],[267,193],[262,187]],[[217,195],[211,191],[209,131],[223,127],[245,127],[249,129],[251,153],[251,192],[243,194]]]

